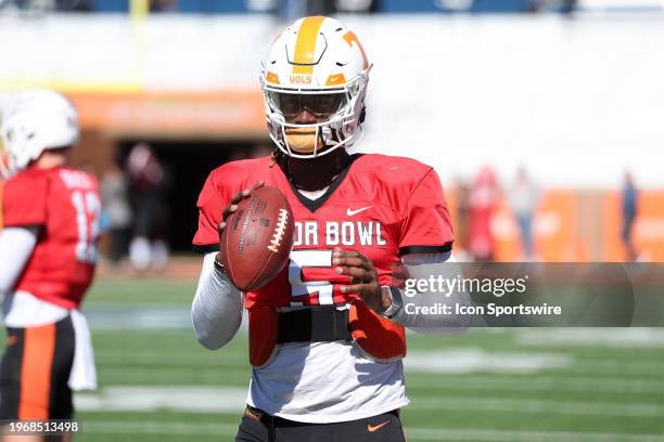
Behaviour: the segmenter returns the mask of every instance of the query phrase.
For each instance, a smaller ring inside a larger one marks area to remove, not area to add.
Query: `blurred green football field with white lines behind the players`
[[[219,351],[189,323],[194,282],[102,280],[85,310],[100,390],[81,441],[232,441],[246,334]],[[664,441],[664,330],[473,329],[409,336],[409,441]]]

